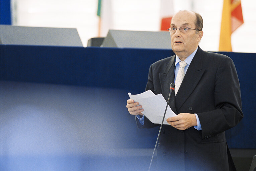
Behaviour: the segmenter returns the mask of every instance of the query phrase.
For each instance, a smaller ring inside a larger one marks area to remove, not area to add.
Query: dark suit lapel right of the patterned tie
[[[192,59],[185,77],[180,85],[179,91],[176,94],[175,106],[177,111],[181,108],[193,90],[196,88],[199,80],[201,79],[205,69],[202,68],[204,52],[200,47]]]

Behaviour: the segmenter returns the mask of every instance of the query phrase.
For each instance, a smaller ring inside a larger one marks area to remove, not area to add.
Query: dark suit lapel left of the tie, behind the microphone
[[[161,89],[162,89],[162,95],[165,98],[165,100],[168,100],[169,97],[169,92],[170,92],[170,84],[174,82],[174,68],[175,68],[175,58],[176,55],[171,57],[170,62],[168,63],[165,71],[163,73],[159,73],[159,79],[160,79],[160,84],[161,84]],[[175,95],[174,91],[171,94],[170,101],[169,101],[169,106],[172,109],[174,113],[176,112],[175,108]]]

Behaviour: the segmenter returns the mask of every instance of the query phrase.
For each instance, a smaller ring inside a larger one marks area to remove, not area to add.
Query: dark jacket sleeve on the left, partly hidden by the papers
[[[153,74],[152,74],[152,65],[151,65],[149,68],[148,82],[147,82],[145,91],[151,90],[152,92],[154,92],[153,76],[152,75]],[[136,120],[138,128],[154,128],[159,125],[159,124],[153,124],[152,122],[149,121],[149,119],[147,117],[144,117],[144,125],[143,126],[141,126],[141,124],[139,123],[138,118],[136,116],[135,116],[135,120]]]

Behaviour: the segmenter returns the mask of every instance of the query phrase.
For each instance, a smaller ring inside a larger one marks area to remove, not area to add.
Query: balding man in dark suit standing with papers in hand
[[[161,93],[167,100],[170,83],[178,85],[169,102],[177,116],[167,119],[170,125],[163,125],[159,139],[158,170],[236,170],[225,131],[243,118],[239,80],[231,58],[198,46],[202,26],[198,13],[175,14],[169,31],[176,55],[155,62],[149,69],[146,91]],[[139,128],[159,125],[141,113],[143,107],[138,102],[127,100],[126,107],[136,116]]]

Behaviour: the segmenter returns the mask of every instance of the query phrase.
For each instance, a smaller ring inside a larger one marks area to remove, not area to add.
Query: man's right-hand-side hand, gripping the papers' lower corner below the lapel
[[[186,130],[190,127],[197,126],[195,114],[181,113],[175,117],[166,120],[171,126],[178,130]]]

